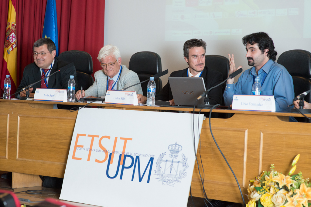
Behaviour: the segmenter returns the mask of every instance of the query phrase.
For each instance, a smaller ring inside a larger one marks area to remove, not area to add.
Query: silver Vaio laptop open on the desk
[[[197,97],[206,91],[203,78],[169,77],[175,105],[193,106]],[[204,104],[204,98],[197,101]]]

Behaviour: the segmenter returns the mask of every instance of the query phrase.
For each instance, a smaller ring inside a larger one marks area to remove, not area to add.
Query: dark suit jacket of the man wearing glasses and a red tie
[[[67,89],[68,80],[70,79],[70,75],[74,76],[74,80],[76,82],[76,91],[79,90],[79,84],[77,80],[76,68],[74,65],[69,65],[70,63],[66,61],[58,61],[57,57],[54,57],[54,64],[49,74],[54,73],[56,70],[60,70],[56,74],[49,77],[48,88],[56,88],[56,89]],[[58,67],[59,66],[59,67]],[[24,88],[25,86],[30,85],[31,83],[35,83],[41,79],[40,68],[35,64],[35,62],[27,65],[24,69],[23,78],[21,79],[21,84],[17,87],[16,92]],[[32,92],[35,92],[37,88],[40,88],[41,83],[36,83],[33,86]],[[19,94],[16,94],[17,98]]]

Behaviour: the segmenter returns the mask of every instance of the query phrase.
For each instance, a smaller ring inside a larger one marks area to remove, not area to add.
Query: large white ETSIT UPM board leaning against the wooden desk
[[[197,151],[203,115],[194,120]],[[60,199],[105,207],[187,206],[193,140],[193,114],[80,109]]]

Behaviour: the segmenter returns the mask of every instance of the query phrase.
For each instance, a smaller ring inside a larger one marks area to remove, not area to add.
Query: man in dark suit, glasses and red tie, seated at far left
[[[36,88],[67,89],[70,75],[74,76],[76,88],[79,88],[75,66],[65,61],[58,61],[58,58],[55,57],[56,46],[51,39],[38,39],[34,43],[32,50],[35,62],[25,67],[23,78],[16,91],[19,91],[25,86],[49,76],[56,70],[60,71],[51,77],[42,80],[41,83],[36,83],[32,88],[30,88],[30,97],[34,96],[32,91],[35,91]],[[20,92],[20,94],[15,95],[15,97],[26,97],[26,91]]]

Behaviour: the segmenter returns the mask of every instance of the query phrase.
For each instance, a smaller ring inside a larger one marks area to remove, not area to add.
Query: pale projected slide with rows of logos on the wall
[[[165,41],[184,41],[193,37],[205,40],[240,39],[242,35],[259,31],[284,38],[311,38],[310,2],[167,0]]]

